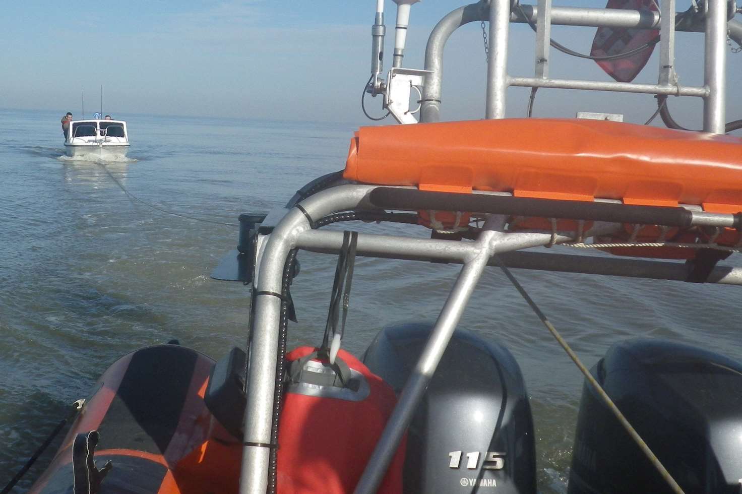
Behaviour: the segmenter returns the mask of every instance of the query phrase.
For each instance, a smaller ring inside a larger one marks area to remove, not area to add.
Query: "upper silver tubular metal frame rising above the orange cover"
[[[487,9],[484,3],[489,4]],[[490,21],[490,56],[487,63],[487,105],[485,116],[488,119],[505,118],[506,92],[510,86],[531,88],[562,88],[582,90],[608,90],[628,93],[649,93],[675,96],[697,96],[703,98],[703,131],[723,134],[725,129],[725,75],[726,36],[742,39],[742,25],[727,21],[726,0],[709,0],[709,13],[706,16],[706,48],[704,56],[704,85],[702,87],[681,86],[674,71],[674,0],[662,0],[662,8],[671,12],[666,19],[660,19],[657,12],[645,10],[592,9],[578,7],[551,7],[550,1],[539,0],[539,7],[522,5],[523,14],[510,12],[508,0],[485,0],[477,4],[460,7],[445,16],[436,25],[428,39],[425,50],[425,69],[433,70],[425,78],[421,122],[439,122],[441,107],[441,79],[443,67],[443,48],[447,39],[458,27],[467,22]],[[487,12],[487,10],[489,10]],[[539,13],[539,10],[542,10]],[[543,12],[548,10],[548,12]],[[511,77],[508,75],[508,24],[510,22],[536,22],[536,76]],[[547,59],[548,43],[544,45],[545,33],[550,29],[541,24],[571,26],[605,26],[639,29],[657,29],[663,32],[660,41],[660,76],[657,85],[634,84],[629,82],[600,82],[574,79],[550,79],[548,67],[539,63]],[[683,26],[677,30],[693,31],[697,27]]]

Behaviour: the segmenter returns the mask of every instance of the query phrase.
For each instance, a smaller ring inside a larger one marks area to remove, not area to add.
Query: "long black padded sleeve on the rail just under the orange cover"
[[[468,211],[470,213],[516,214],[519,216],[608,221],[640,225],[668,225],[688,228],[693,215],[684,208],[643,206],[611,202],[533,199],[530,197],[456,194],[416,191],[409,188],[375,188],[372,205],[407,211]]]

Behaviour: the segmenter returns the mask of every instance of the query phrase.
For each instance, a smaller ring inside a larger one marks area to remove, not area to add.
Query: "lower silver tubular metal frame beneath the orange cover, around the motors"
[[[267,237],[261,251],[259,275],[254,290],[255,318],[250,347],[247,406],[245,410],[242,470],[240,493],[264,494],[269,471],[269,447],[272,424],[272,402],[275,394],[275,366],[280,326],[279,294],[283,266],[292,248],[335,253],[342,245],[339,231],[312,230],[310,218],[318,220],[327,214],[340,211],[372,209],[369,201],[374,185],[340,185],[322,191],[301,202],[301,208],[292,208]],[[704,220],[726,220],[709,217]],[[505,233],[504,217],[492,215],[475,242],[452,242],[420,237],[359,234],[358,255],[404,260],[442,260],[462,263],[459,278],[439,315],[433,333],[413,375],[407,382],[403,395],[387,422],[367,470],[358,484],[357,493],[372,493],[384,477],[388,461],[409,424],[430,377],[435,372],[442,352],[456,328],[456,323],[466,302],[486,266],[493,266],[493,254],[511,267],[547,269],[551,271],[611,274],[628,277],[647,277],[663,280],[686,280],[689,267],[683,263],[586,257],[565,254],[540,254],[517,252],[519,249],[543,246],[550,243],[550,232]],[[595,225],[600,233],[611,231],[617,225]],[[568,234],[557,234],[557,241],[569,240]],[[716,267],[709,277],[711,283],[742,285],[742,269]],[[260,446],[265,445],[265,446]]]

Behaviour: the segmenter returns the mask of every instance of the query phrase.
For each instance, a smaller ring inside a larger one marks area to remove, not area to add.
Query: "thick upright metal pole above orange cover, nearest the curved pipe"
[[[504,119],[508,95],[510,0],[490,0],[490,59],[487,61],[487,119]]]

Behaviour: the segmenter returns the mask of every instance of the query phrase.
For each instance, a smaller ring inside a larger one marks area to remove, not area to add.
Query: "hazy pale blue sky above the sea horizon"
[[[405,67],[423,68],[430,30],[459,5],[413,6]],[[678,1],[678,10],[686,7]],[[385,8],[388,70],[396,8],[391,0]],[[91,113],[102,85],[105,113],[371,123],[360,98],[370,76],[375,0],[0,0],[0,12],[0,108],[78,113],[84,93]],[[594,32],[555,26],[552,37],[588,52]],[[511,26],[511,75],[533,76],[533,38],[528,26]],[[635,82],[657,82],[658,52]],[[728,52],[728,60],[727,120],[741,119],[742,53]],[[678,33],[676,62],[682,84],[702,85],[703,35]],[[482,29],[467,24],[446,46],[442,118],[482,118],[485,76]],[[609,80],[594,62],[562,53],[552,53],[551,76]],[[528,93],[509,90],[508,116],[525,116]],[[700,127],[700,99],[670,98],[669,105],[681,125]],[[367,108],[383,114],[381,98],[367,99]],[[533,115],[602,111],[643,123],[655,108],[651,95],[539,90]]]

